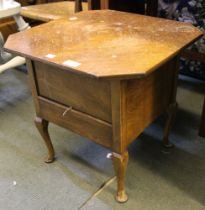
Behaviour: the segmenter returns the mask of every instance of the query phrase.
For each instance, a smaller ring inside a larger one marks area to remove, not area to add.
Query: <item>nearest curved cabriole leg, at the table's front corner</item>
[[[128,159],[129,154],[127,151],[122,155],[119,155],[115,152],[112,153],[113,165],[117,176],[116,200],[120,203],[124,203],[128,200],[128,196],[125,192],[125,173],[127,169]]]

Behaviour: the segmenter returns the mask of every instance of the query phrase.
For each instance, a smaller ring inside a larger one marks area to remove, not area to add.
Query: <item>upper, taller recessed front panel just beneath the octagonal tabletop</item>
[[[111,122],[109,82],[74,74],[37,61],[33,66],[40,96]]]

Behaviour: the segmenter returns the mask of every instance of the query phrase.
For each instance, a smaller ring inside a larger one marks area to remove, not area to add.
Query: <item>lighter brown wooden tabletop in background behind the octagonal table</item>
[[[88,10],[88,4],[82,3],[82,9]],[[42,22],[49,22],[60,18],[67,18],[69,15],[75,13],[74,1],[63,1],[55,3],[47,3],[33,6],[22,7],[21,15],[23,17],[39,20]]]

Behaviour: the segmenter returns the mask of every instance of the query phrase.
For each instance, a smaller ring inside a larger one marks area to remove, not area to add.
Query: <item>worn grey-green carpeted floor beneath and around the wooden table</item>
[[[162,116],[130,145],[129,201],[118,204],[110,151],[51,124],[57,159],[45,164],[27,75],[1,74],[0,210],[205,210],[205,139],[198,136],[204,93],[204,83],[180,77],[175,148],[161,147]]]

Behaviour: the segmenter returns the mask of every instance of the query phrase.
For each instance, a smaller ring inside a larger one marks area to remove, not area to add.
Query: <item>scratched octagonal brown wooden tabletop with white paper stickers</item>
[[[201,35],[188,23],[100,10],[11,35],[5,48],[61,68],[73,60],[80,64],[73,67],[75,72],[94,77],[136,77],[150,73]],[[49,53],[55,57],[47,58]]]

